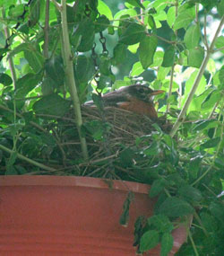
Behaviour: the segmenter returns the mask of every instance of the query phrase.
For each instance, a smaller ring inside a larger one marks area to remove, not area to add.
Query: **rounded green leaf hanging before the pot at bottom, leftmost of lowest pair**
[[[140,240],[140,251],[146,252],[159,243],[159,233],[156,230],[150,230],[142,235]]]

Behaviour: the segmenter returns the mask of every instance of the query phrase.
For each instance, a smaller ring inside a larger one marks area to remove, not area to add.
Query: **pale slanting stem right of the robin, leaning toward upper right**
[[[214,48],[214,45],[215,45],[215,40],[217,39],[217,37],[219,36],[220,34],[220,31],[221,31],[221,28],[223,26],[223,23],[224,23],[224,16],[221,18],[220,20],[220,24],[219,24],[219,27],[217,29],[217,31],[215,32],[215,35],[211,41],[211,46],[210,48],[207,50],[206,52],[206,55],[202,61],[202,66],[200,67],[199,71],[198,71],[198,74],[194,80],[194,84],[193,84],[193,87],[192,87],[192,90],[191,92],[189,93],[189,96],[185,102],[185,105],[183,107],[183,109],[181,110],[179,116],[178,116],[178,119],[176,121],[176,123],[174,124],[174,127],[172,128],[171,132],[170,132],[170,136],[171,137],[174,137],[177,133],[177,130],[178,128],[180,127],[180,125],[183,123],[183,121],[185,120],[185,113],[187,111],[187,109],[189,108],[189,105],[190,103],[192,102],[193,100],[193,97],[194,97],[194,93],[198,87],[198,84],[200,83],[201,79],[202,79],[202,75],[204,73],[204,70],[208,64],[208,61],[211,57],[211,53],[212,53],[212,50]]]

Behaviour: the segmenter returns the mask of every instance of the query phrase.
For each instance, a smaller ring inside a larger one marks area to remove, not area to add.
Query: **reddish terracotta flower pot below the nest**
[[[135,255],[134,221],[151,216],[147,185],[86,177],[1,176],[0,255]],[[128,227],[119,225],[128,190],[134,191]],[[184,233],[183,233],[184,231]],[[185,242],[175,232],[170,255]],[[159,255],[159,247],[150,255]]]

